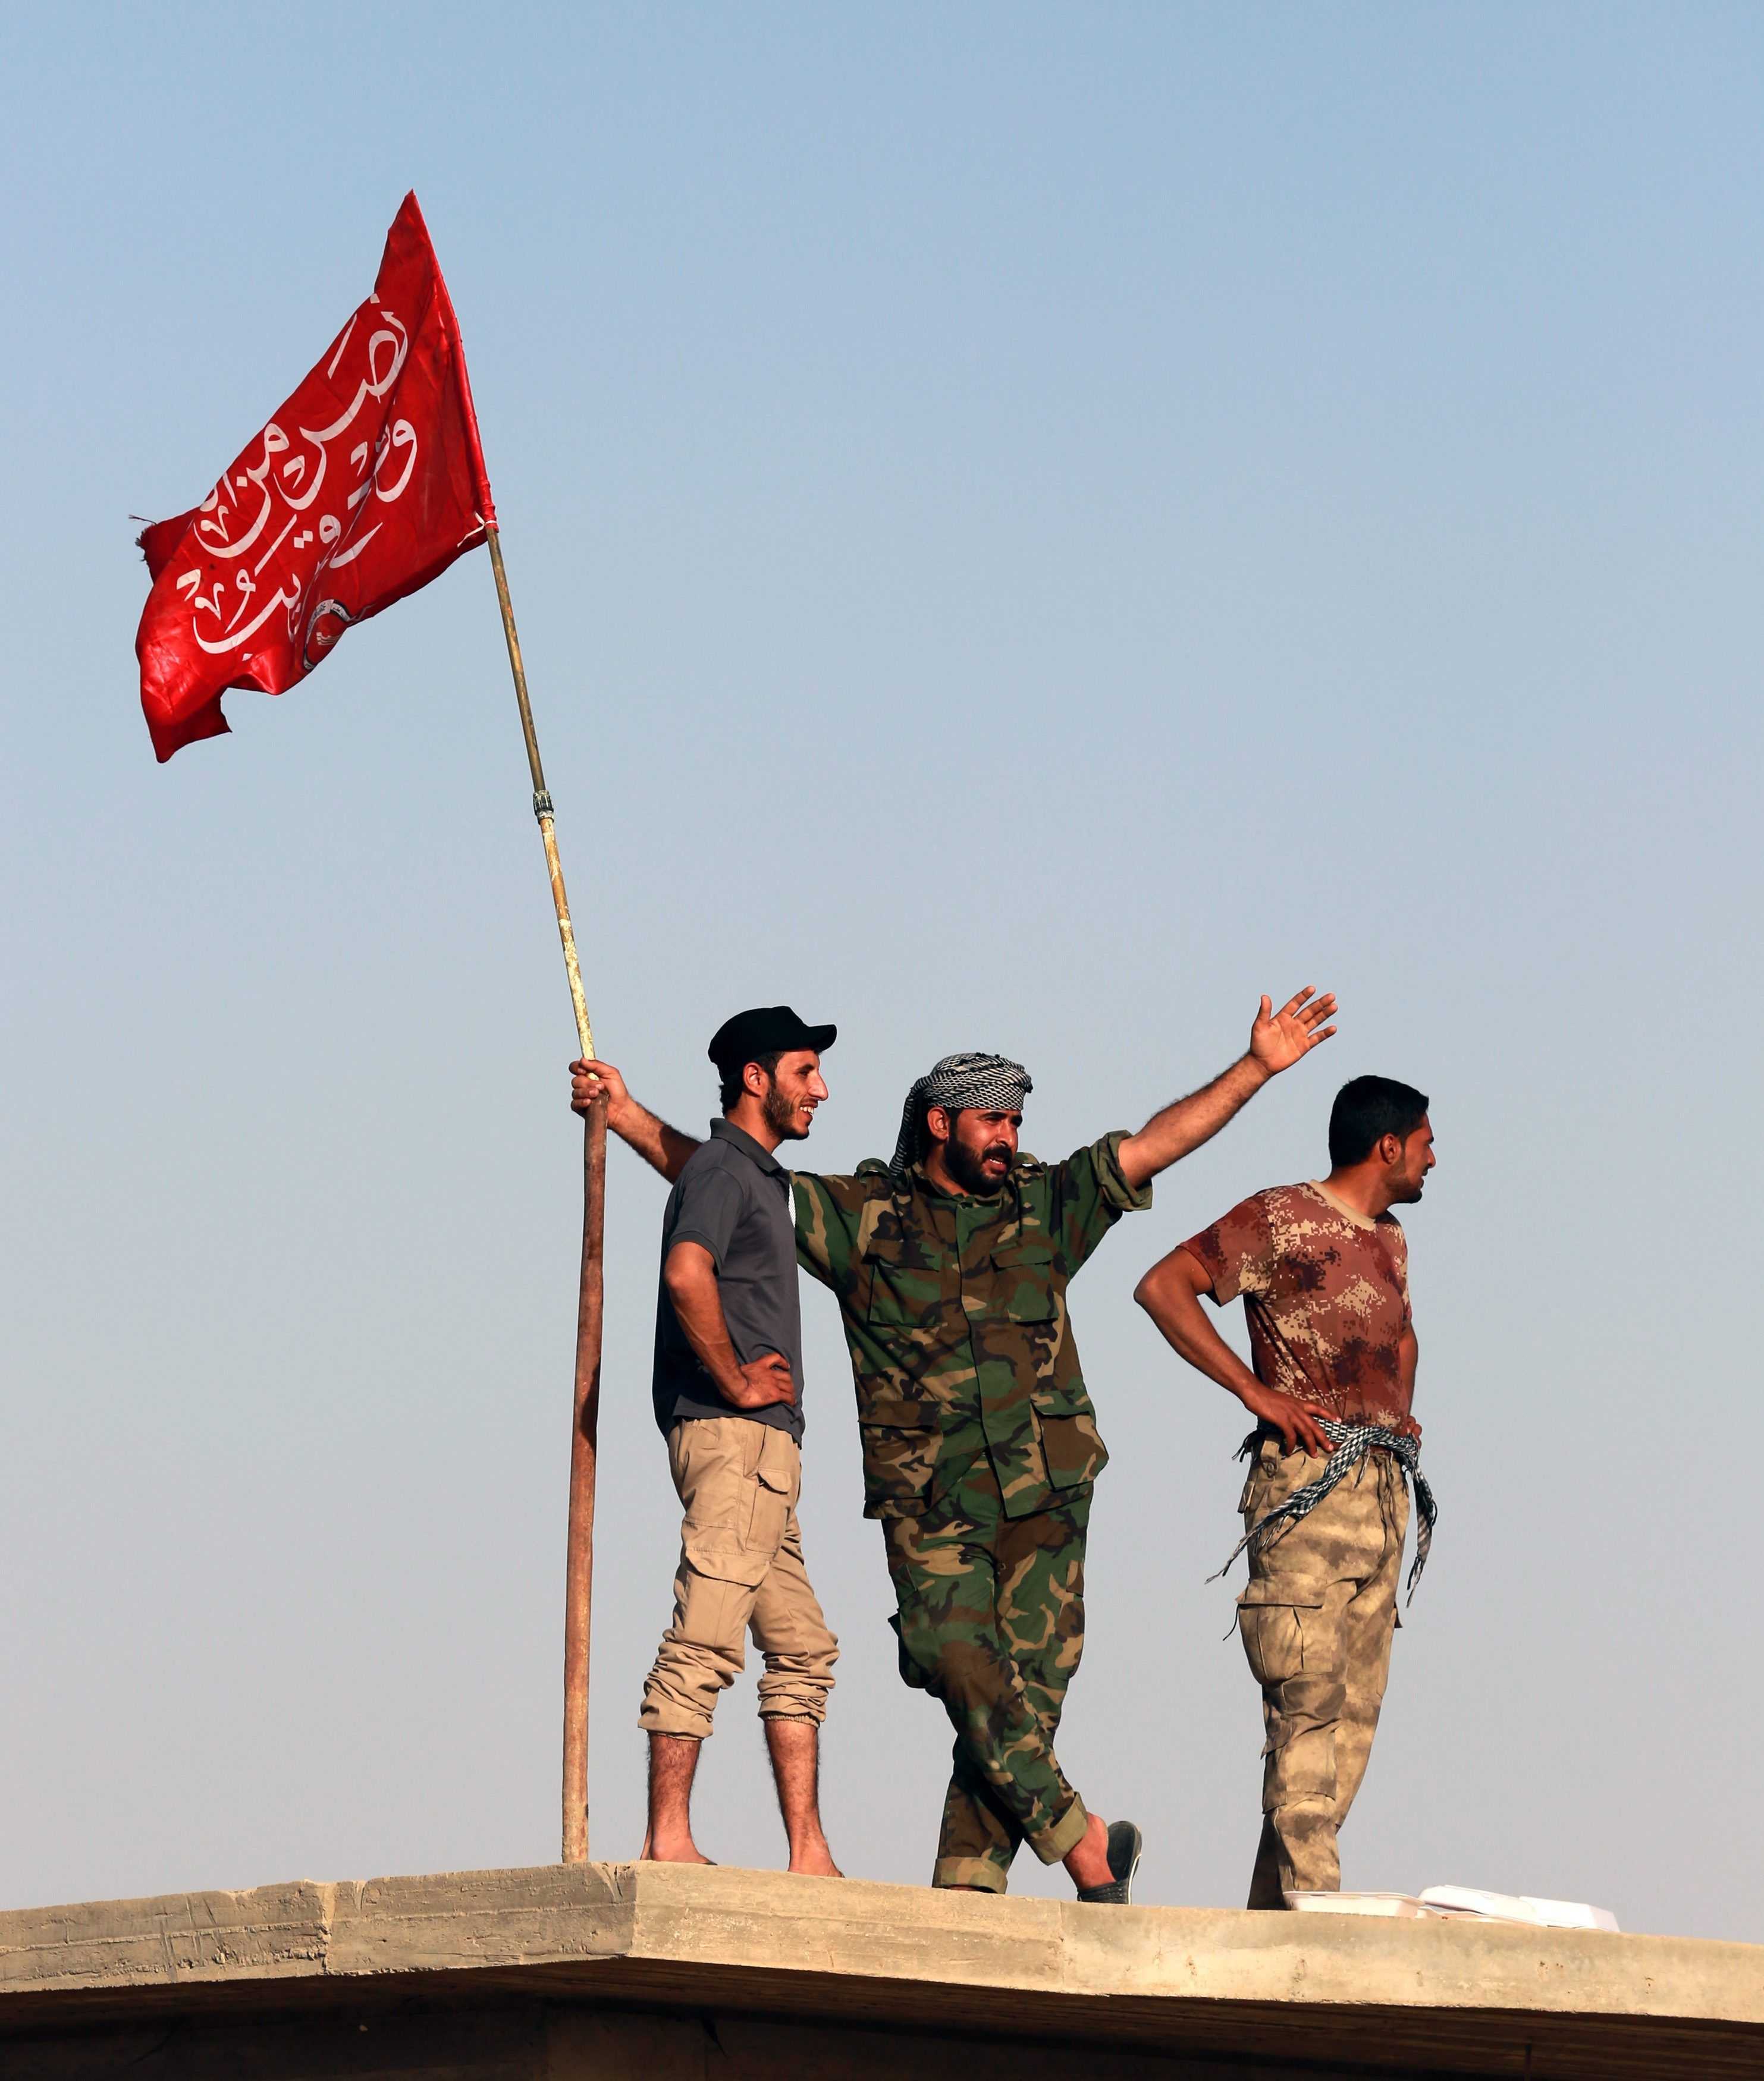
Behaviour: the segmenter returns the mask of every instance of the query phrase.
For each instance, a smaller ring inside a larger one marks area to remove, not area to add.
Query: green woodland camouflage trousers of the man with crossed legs
[[[1002,1894],[1016,1846],[1043,1865],[1089,1827],[1054,1758],[1066,1686],[1085,1646],[1089,1486],[1006,1517],[977,1459],[923,1517],[885,1517],[900,1673],[956,1729],[933,1885]]]

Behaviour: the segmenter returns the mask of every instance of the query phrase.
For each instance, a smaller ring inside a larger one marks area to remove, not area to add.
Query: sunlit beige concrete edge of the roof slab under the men
[[[1535,1931],[1483,1923],[1087,1908],[1077,1902],[796,1879],[681,1865],[544,1865],[433,1877],[289,1881],[0,1915],[0,2004],[15,2023],[56,1996],[273,1992],[560,1967],[666,1967],[691,1998],[702,1971],[1208,2004],[1350,2004],[1764,2025],[1764,1948],[1691,1937]],[[591,1975],[600,1977],[600,1975]],[[608,1989],[610,1992],[610,1989]]]

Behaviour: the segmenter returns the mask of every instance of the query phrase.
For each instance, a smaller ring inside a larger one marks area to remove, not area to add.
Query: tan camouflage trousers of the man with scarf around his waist
[[[1256,1448],[1245,1527],[1322,1473],[1310,1453]],[[1397,1619],[1408,1490],[1389,1453],[1368,1455],[1308,1517],[1250,1555],[1237,1627],[1262,1686],[1262,1842],[1252,1908],[1341,1885],[1337,1831],[1366,1775]]]

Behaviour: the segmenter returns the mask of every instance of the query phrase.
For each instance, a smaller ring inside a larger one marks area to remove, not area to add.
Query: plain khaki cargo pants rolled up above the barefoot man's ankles
[[[708,1740],[710,1715],[748,1659],[764,1656],[760,1719],[827,1717],[839,1642],[802,1561],[802,1448],[752,1417],[683,1417],[669,1432],[679,1500],[675,1617],[644,1684],[637,1725]]]

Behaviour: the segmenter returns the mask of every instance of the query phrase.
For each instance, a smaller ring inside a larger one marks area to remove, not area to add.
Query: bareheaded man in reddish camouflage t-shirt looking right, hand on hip
[[[1433,1170],[1427,1097],[1354,1078],[1329,1117],[1322,1182],[1241,1201],[1154,1265],[1135,1299],[1175,1348],[1256,1417],[1245,1440],[1245,1536],[1331,1455],[1318,1417],[1420,1436],[1410,1415],[1416,1338],[1408,1242],[1389,1211],[1420,1199]],[[1243,1296],[1248,1369],[1200,1307]],[[1391,1450],[1372,1450],[1308,1515],[1250,1540],[1237,1625],[1262,1686],[1262,1840],[1252,1908],[1341,1885],[1337,1831],[1366,1773],[1408,1530]]]

